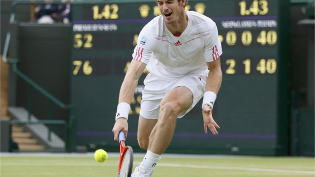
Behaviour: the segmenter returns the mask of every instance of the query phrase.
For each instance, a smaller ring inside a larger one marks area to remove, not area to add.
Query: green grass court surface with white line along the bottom
[[[143,154],[134,155],[133,168]],[[314,157],[164,154],[154,176],[315,176]],[[118,153],[1,153],[0,176],[117,176]]]

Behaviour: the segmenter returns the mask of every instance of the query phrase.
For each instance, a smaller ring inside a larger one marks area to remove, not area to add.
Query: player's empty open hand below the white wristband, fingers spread
[[[219,129],[219,125],[216,124],[212,117],[212,110],[211,107],[208,104],[204,104],[202,106],[202,117],[203,117],[203,128],[204,132],[208,133],[207,127],[209,127],[210,131],[212,132],[213,135],[218,134],[217,129]]]

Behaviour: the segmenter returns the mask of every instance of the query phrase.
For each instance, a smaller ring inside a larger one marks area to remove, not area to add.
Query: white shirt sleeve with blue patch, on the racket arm
[[[137,44],[133,49],[132,58],[141,61],[145,64],[149,61],[152,54],[152,46],[154,45],[154,40],[150,37],[149,33],[145,28],[143,28],[137,39]]]

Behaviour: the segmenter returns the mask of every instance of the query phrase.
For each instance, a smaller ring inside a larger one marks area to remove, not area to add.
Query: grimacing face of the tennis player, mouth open
[[[177,22],[183,14],[185,0],[156,0],[156,3],[166,23]]]

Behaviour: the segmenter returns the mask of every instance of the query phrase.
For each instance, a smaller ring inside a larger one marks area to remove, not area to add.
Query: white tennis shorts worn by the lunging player
[[[160,102],[165,94],[177,86],[185,86],[192,92],[193,101],[190,107],[177,115],[177,118],[183,117],[203,96],[207,75],[206,69],[200,73],[187,74],[172,81],[165,81],[149,73],[143,81],[140,115],[147,119],[157,119]]]

